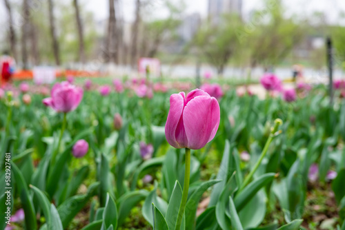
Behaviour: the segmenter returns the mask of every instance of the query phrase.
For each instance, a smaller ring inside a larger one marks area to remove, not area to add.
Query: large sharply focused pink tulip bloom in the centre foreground
[[[216,98],[203,90],[170,96],[166,121],[166,140],[177,149],[201,149],[215,137],[220,121]]]

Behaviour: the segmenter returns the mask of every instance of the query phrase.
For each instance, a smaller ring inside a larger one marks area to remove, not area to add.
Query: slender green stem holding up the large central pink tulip
[[[179,205],[179,214],[177,215],[175,230],[181,229],[182,218],[184,217],[184,209],[188,198],[190,178],[190,149],[186,148],[186,169],[184,171],[184,191],[182,192],[181,204]]]

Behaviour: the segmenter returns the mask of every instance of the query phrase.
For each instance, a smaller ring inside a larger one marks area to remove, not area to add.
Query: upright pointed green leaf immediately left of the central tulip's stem
[[[172,190],[170,196],[168,209],[166,211],[166,222],[168,223],[169,229],[175,229],[176,220],[179,213],[179,205],[181,204],[182,199],[182,189],[179,185],[179,181],[176,180],[175,187]]]

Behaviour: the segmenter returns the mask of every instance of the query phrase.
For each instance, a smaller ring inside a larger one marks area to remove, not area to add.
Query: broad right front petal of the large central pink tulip
[[[215,98],[196,96],[187,103],[183,116],[188,148],[201,149],[215,137],[220,120],[219,104]]]

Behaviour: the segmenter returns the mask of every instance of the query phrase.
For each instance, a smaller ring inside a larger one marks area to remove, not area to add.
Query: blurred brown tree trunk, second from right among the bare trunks
[[[106,40],[106,52],[107,59],[106,62],[117,61],[116,54],[117,50],[115,45],[115,28],[116,28],[116,18],[115,18],[115,0],[109,0],[109,21],[108,21],[108,36]]]

